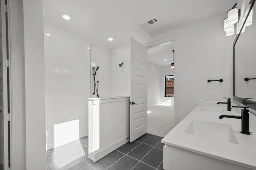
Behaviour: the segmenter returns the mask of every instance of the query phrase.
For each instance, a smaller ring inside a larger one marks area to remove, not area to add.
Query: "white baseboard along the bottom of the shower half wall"
[[[100,158],[106,156],[107,154],[109,154],[110,152],[115,150],[116,148],[118,148],[118,147],[124,145],[126,142],[128,142],[129,139],[127,139],[127,138],[129,138],[129,135],[126,137],[123,137],[122,139],[116,141],[115,143],[108,145],[107,147],[105,147],[103,149],[99,149],[96,152],[89,153],[89,158],[93,162],[96,162]]]

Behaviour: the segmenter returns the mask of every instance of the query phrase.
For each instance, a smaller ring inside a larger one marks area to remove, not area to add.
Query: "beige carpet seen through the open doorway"
[[[148,133],[165,137],[173,127],[174,106],[148,106]]]

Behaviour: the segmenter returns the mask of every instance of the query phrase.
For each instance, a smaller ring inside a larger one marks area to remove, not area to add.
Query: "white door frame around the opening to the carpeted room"
[[[163,38],[163,39],[158,39],[156,41],[151,41],[149,43],[144,43],[143,45],[145,45],[147,48],[148,47],[152,47],[152,46],[155,46],[155,45],[159,45],[159,44],[163,44],[163,43],[167,43],[169,41],[174,41],[174,51],[175,51],[175,55],[174,55],[174,61],[175,61],[175,67],[174,67],[174,75],[175,75],[175,80],[174,81],[174,93],[175,94],[179,94],[178,93],[178,68],[179,68],[179,50],[178,50],[178,35],[174,35],[174,36],[171,36],[171,37],[166,37],[166,38]],[[174,127],[176,125],[178,125],[178,95],[176,95],[174,97]]]

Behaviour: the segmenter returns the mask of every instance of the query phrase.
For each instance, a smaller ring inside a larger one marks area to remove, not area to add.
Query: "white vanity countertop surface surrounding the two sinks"
[[[244,166],[246,168],[256,169],[256,129],[254,129],[254,127],[250,125],[250,132],[252,132],[251,135],[244,135],[240,133],[241,119],[226,117],[223,119],[219,119],[218,117],[222,114],[241,114],[235,111],[235,109],[232,109],[232,111],[227,111],[226,104],[217,105],[216,103],[217,102],[199,102],[199,106],[196,107],[178,125],[176,125],[176,127],[174,127],[174,129],[172,129],[172,131],[170,131],[162,139],[162,143],[196,152],[198,154],[202,154],[219,160],[223,160],[226,162],[230,162],[233,164],[237,164],[240,166]],[[200,109],[203,106],[224,108],[225,113],[214,111],[201,111]],[[220,141],[218,139],[214,140],[206,137],[200,137],[184,133],[185,129],[188,127],[192,120],[203,120],[230,124],[232,126],[232,129],[234,130],[239,144],[228,143],[225,141]]]

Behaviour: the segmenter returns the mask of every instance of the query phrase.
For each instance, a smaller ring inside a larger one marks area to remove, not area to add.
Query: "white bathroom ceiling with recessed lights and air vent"
[[[113,49],[227,12],[237,0],[43,0],[44,20]],[[64,20],[68,14],[71,20]],[[159,22],[146,27],[144,21]],[[113,41],[108,41],[112,37]]]

